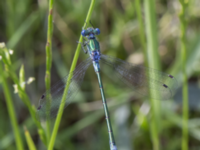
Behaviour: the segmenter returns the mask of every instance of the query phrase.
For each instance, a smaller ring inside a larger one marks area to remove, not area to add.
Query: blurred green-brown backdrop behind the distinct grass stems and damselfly
[[[143,1],[142,18],[145,18]],[[71,66],[77,41],[80,37],[90,1],[56,0],[53,11],[52,69],[51,84],[64,77]],[[189,144],[190,150],[200,149],[199,119],[199,73],[200,73],[200,1],[189,2],[186,19],[186,71],[189,88]],[[156,0],[156,26],[161,70],[176,77],[178,83],[173,99],[160,101],[161,120],[159,122],[159,143],[162,150],[181,149],[182,137],[182,75],[180,61],[180,4],[178,0]],[[12,68],[19,74],[24,65],[25,80],[35,80],[26,85],[31,104],[38,106],[45,92],[46,35],[48,21],[47,0],[6,0],[0,1],[0,42],[5,42],[10,55]],[[91,21],[100,28],[98,36],[101,52],[118,57],[134,64],[144,64],[140,28],[136,14],[135,1],[96,0]],[[143,20],[144,21],[144,20]],[[146,43],[146,42],[145,42]],[[81,51],[78,64],[88,56]],[[103,76],[106,97],[111,115],[114,135],[119,150],[150,150],[150,103],[136,99],[128,87],[122,87],[112,78],[106,68]],[[2,73],[1,73],[2,74]],[[2,83],[2,78],[0,78]],[[38,150],[46,149],[38,136],[30,113],[14,93],[13,81],[7,78],[11,91],[14,111],[19,124],[23,145],[28,149],[23,127],[26,126]],[[6,98],[0,86],[0,149],[16,149],[15,138],[10,123]],[[54,121],[51,121],[53,127]],[[42,122],[42,125],[45,123]],[[81,92],[64,110],[55,150],[108,150],[109,140],[101,95],[93,68],[86,73]]]

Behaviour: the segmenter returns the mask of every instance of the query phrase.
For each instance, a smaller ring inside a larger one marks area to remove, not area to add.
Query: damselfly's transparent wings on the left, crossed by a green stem
[[[83,81],[85,72],[91,64],[91,58],[87,58],[79,64],[73,72],[66,75],[41,96],[39,107],[37,108],[39,119],[46,119],[47,116],[52,118],[58,114],[63,92],[70,74],[72,74],[72,79],[68,81],[68,84],[70,85],[68,94],[65,98],[65,107],[74,99],[74,96],[78,93],[79,87]],[[47,104],[49,105],[47,106]]]

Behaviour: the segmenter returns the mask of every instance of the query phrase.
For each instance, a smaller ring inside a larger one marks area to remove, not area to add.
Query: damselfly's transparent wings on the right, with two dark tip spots
[[[134,65],[121,59],[101,55],[101,62],[112,67],[120,81],[124,82],[139,96],[149,96],[149,89],[154,99],[169,99],[173,96],[177,87],[176,79],[169,74]]]

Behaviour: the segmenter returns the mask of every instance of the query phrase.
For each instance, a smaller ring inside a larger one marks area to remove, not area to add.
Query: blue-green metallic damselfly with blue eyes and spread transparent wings
[[[71,101],[73,101],[74,96],[78,93],[78,89],[83,81],[86,70],[91,64],[93,64],[102,96],[110,139],[110,149],[116,150],[117,147],[115,145],[115,140],[112,133],[109,112],[106,104],[103,84],[101,81],[100,62],[113,68],[115,71],[113,74],[117,75],[119,81],[124,82],[136,94],[148,96],[149,89],[154,91],[154,94],[151,95],[151,98],[154,99],[171,98],[177,86],[176,80],[172,75],[146,68],[144,66],[133,65],[121,59],[101,54],[99,42],[95,37],[96,35],[100,34],[100,30],[98,28],[89,27],[86,30],[83,29],[81,34],[87,39],[82,43],[82,48],[85,53],[89,53],[89,57],[80,63],[73,72],[69,73],[66,77],[64,77],[61,81],[59,81],[50,90],[47,90],[46,93],[42,95],[37,111],[41,117],[45,117],[46,115],[49,115],[50,117],[56,116],[65,86],[69,85],[68,93],[65,98],[66,107]],[[72,79],[68,81],[69,76],[72,76]],[[47,102],[49,101],[49,106],[47,106]]]

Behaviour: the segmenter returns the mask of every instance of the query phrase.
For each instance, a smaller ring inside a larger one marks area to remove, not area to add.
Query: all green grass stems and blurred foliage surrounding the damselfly
[[[172,99],[140,99],[104,68],[118,149],[199,149],[199,7],[198,0],[0,1],[0,150],[109,148],[92,67],[57,118],[36,116],[45,90],[88,57],[77,41],[89,20],[101,30],[103,54],[177,79]]]

